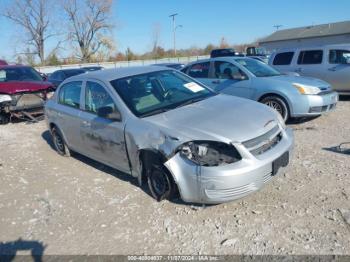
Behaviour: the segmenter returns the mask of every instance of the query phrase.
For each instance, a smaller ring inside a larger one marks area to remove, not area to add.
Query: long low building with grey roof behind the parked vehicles
[[[350,21],[278,30],[259,41],[268,51],[331,44],[350,44]]]

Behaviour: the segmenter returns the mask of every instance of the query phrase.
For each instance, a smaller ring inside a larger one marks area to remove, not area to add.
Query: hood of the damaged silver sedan
[[[144,118],[180,140],[243,142],[260,136],[278,120],[260,103],[229,95],[214,97]]]

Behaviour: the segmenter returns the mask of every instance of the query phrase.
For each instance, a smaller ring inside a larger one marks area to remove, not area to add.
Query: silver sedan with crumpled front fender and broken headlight
[[[274,110],[166,67],[74,76],[45,113],[59,154],[72,150],[129,173],[158,201],[244,197],[288,165],[293,146]]]

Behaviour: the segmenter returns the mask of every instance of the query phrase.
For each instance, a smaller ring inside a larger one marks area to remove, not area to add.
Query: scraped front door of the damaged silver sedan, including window
[[[124,123],[98,116],[101,108],[110,107],[120,113],[112,93],[104,83],[88,80],[84,92],[84,111],[81,114],[80,135],[84,154],[121,171],[129,172],[124,140]]]

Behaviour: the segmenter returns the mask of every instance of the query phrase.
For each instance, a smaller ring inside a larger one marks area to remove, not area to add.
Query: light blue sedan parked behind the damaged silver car
[[[268,105],[285,121],[290,117],[317,116],[331,111],[338,101],[338,94],[322,80],[282,75],[248,57],[196,61],[182,71],[217,92]]]

